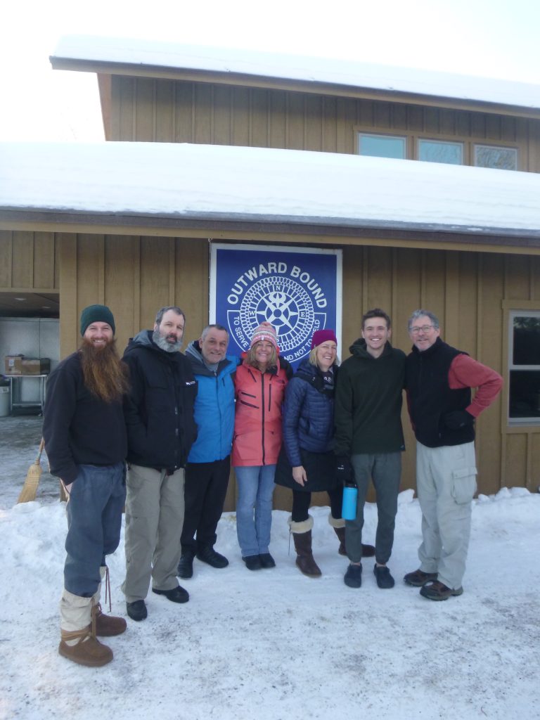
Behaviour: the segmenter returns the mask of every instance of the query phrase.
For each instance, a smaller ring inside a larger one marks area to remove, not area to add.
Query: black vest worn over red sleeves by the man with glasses
[[[471,390],[464,387],[451,390],[448,374],[454,358],[467,355],[437,338],[423,352],[413,348],[407,358],[405,383],[409,397],[410,416],[416,439],[430,448],[462,445],[474,440],[474,426],[451,430],[444,423],[444,415],[452,410],[464,410],[471,404]]]

